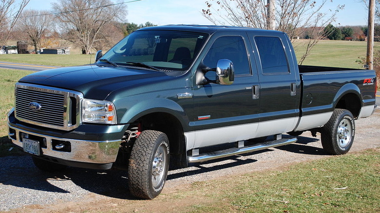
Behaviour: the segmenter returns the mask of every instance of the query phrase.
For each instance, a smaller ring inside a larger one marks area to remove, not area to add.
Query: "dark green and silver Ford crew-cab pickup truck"
[[[299,66],[283,32],[148,27],[94,64],[21,78],[9,138],[41,170],[124,169],[131,194],[152,199],[169,165],[282,146],[304,131],[345,154],[375,93],[373,70]]]

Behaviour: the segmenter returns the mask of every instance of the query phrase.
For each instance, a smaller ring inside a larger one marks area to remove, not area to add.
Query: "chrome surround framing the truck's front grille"
[[[25,84],[25,83],[16,83],[15,87],[15,97],[16,97],[16,90],[17,88],[21,89],[29,89],[29,90],[35,90],[35,91],[40,91],[40,92],[48,92],[52,94],[61,94],[64,95],[64,106],[63,106],[63,126],[60,125],[53,125],[53,124],[46,124],[42,122],[36,122],[36,121],[31,121],[25,118],[20,118],[17,115],[17,108],[16,108],[16,98],[15,98],[15,117],[22,122],[28,123],[28,124],[35,124],[39,126],[44,126],[48,128],[54,128],[54,129],[59,129],[59,130],[65,130],[69,131],[72,129],[75,129],[76,127],[79,126],[81,123],[81,103],[83,100],[83,94],[77,91],[71,91],[67,89],[58,89],[58,88],[53,88],[53,87],[46,87],[46,86],[40,86],[40,85],[33,85],[33,84]],[[71,97],[75,98],[76,103],[75,103],[75,109],[76,109],[76,121],[71,121]]]

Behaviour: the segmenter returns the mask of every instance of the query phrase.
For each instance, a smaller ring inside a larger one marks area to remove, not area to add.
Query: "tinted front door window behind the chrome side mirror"
[[[216,68],[219,59],[229,59],[232,61],[235,75],[251,73],[246,44],[241,36],[224,36],[217,38],[203,59],[203,63],[210,68]],[[211,72],[208,72],[206,77],[210,78],[210,74]],[[215,72],[213,74],[215,74]]]

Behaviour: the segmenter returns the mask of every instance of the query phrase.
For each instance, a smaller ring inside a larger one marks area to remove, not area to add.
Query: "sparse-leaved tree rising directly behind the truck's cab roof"
[[[208,9],[202,10],[203,16],[214,24],[268,29],[267,0],[209,0]],[[344,5],[338,5],[334,11],[322,12],[327,0],[276,0],[275,29],[285,32],[292,43],[295,37],[303,35],[306,30],[317,35],[304,45],[305,53],[299,60],[302,64],[310,50],[325,34],[321,27],[334,21],[336,13]]]

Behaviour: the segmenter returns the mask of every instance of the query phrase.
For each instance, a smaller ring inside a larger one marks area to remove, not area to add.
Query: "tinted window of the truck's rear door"
[[[283,43],[278,37],[255,37],[263,73],[288,73]]]

